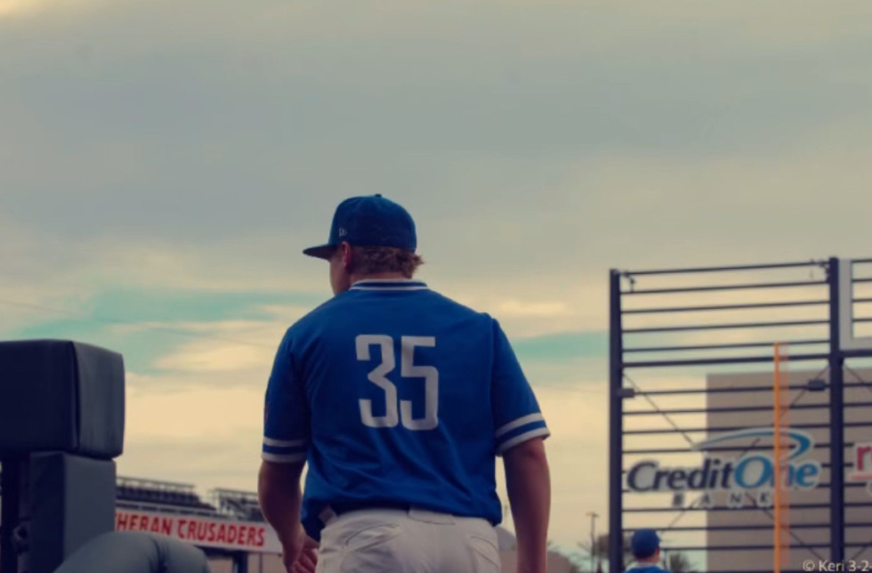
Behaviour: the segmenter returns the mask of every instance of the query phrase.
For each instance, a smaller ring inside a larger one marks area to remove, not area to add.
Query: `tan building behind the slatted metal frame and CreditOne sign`
[[[796,366],[793,369],[796,371],[783,375],[782,383],[791,389],[781,390],[781,404],[792,406],[786,412],[782,408],[779,425],[781,435],[785,436],[781,442],[782,453],[794,454],[794,457],[786,466],[782,464],[787,488],[781,490],[778,512],[771,479],[774,472],[770,469],[774,465],[765,462],[765,458],[774,458],[772,435],[738,437],[730,441],[731,446],[741,447],[738,451],[706,453],[709,458],[731,461],[733,472],[732,488],[715,488],[704,494],[708,497],[703,502],[710,506],[706,511],[709,570],[774,570],[776,545],[781,545],[782,570],[872,570],[872,507],[869,506],[872,492],[868,487],[872,481],[872,475],[868,475],[872,469],[872,447],[869,446],[872,428],[867,425],[872,420],[872,407],[868,405],[872,402],[872,386],[866,384],[872,380],[872,369],[851,370],[845,375],[844,553],[848,562],[844,569],[828,569],[831,508],[828,375],[798,370]],[[707,384],[710,390],[771,386],[773,373],[710,375]],[[740,429],[776,426],[772,392],[714,391],[706,397],[709,428],[739,428],[736,432],[741,432]],[[773,408],[761,408],[768,405]],[[747,409],[734,411],[732,408]],[[719,409],[728,411],[719,412]],[[729,432],[708,432],[707,438],[718,438]],[[803,438],[808,441],[803,442]],[[776,543],[776,521],[781,523],[779,543]],[[806,569],[810,562],[813,569]]]

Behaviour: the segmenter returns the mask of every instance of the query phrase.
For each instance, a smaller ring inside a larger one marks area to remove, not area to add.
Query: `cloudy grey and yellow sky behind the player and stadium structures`
[[[119,473],[253,490],[301,250],[382,193],[515,345],[575,545],[610,268],[872,255],[870,62],[864,1],[0,0],[0,338],[124,354]]]

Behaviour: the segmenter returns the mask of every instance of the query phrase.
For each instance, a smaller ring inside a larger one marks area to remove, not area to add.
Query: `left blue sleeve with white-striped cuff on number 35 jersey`
[[[263,408],[261,456],[268,462],[303,462],[309,449],[310,410],[291,348],[288,331],[272,365]]]

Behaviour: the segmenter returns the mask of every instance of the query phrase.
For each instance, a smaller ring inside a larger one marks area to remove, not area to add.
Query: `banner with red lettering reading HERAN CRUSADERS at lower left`
[[[117,531],[147,531],[198,547],[251,553],[281,553],[275,530],[266,523],[216,520],[195,515],[117,509]]]

